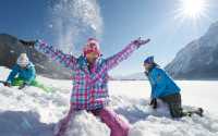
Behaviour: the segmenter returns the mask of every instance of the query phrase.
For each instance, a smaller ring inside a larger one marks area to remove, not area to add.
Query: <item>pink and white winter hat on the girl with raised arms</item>
[[[83,49],[84,55],[86,55],[87,53],[90,53],[90,52],[96,52],[98,54],[98,57],[100,55],[99,42],[95,38],[89,38],[86,46]]]

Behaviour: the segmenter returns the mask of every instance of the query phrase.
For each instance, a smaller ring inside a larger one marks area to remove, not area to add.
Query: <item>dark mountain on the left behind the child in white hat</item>
[[[23,52],[28,54],[38,74],[51,78],[70,78],[70,70],[52,62],[33,48],[23,47],[16,37],[0,34],[0,65],[11,69],[15,64],[17,57]]]

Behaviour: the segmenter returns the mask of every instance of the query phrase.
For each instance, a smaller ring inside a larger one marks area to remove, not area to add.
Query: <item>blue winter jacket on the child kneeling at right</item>
[[[157,66],[148,72],[148,81],[152,85],[152,98],[161,98],[181,90],[173,79]]]

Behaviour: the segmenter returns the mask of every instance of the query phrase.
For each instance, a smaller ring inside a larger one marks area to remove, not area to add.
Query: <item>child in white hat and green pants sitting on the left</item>
[[[48,91],[48,89],[36,82],[35,78],[36,70],[34,64],[29,61],[26,53],[21,53],[7,82],[4,82],[4,86],[19,86],[19,89],[23,89],[25,86],[35,86]]]

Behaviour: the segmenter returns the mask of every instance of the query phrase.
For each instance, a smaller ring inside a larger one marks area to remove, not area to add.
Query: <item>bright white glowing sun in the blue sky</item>
[[[208,3],[206,0],[179,0],[179,12],[184,17],[199,18],[206,14]]]

